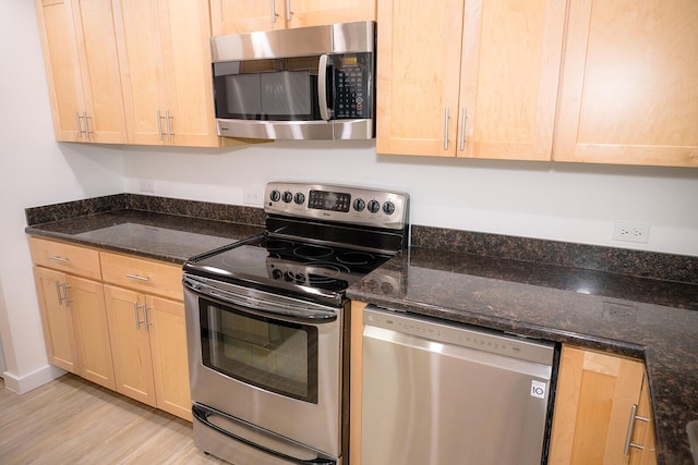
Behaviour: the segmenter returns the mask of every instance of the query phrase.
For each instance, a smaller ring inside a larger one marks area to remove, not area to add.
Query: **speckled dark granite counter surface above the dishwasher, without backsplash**
[[[412,244],[416,242],[424,244],[413,236]],[[491,253],[492,248],[479,252]],[[693,279],[696,260],[666,258],[686,260],[687,276]],[[352,285],[348,296],[643,358],[660,463],[693,463],[686,425],[698,419],[695,283],[418,246]]]

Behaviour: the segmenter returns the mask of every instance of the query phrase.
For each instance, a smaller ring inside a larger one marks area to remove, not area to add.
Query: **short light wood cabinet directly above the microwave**
[[[376,0],[210,0],[214,36],[374,21]]]

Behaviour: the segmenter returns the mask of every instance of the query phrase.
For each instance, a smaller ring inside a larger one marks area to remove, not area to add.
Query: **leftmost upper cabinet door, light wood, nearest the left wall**
[[[71,0],[36,0],[41,49],[57,140],[77,142],[85,109]]]

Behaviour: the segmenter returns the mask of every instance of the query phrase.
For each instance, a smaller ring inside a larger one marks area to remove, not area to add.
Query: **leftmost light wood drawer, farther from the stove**
[[[93,248],[29,237],[32,261],[71,274],[101,280],[99,253]]]

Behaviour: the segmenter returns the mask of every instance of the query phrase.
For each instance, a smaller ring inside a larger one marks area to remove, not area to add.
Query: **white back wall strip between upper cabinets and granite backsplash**
[[[698,256],[698,169],[376,156],[373,142],[278,142],[234,149],[129,147],[127,189],[242,205],[242,189],[296,180],[390,187],[411,222]],[[612,241],[650,224],[648,244]]]

